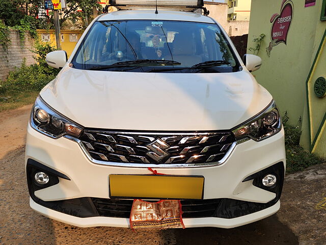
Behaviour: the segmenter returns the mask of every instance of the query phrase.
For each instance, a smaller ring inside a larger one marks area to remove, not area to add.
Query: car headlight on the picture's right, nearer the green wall
[[[232,132],[236,139],[249,137],[260,141],[278,133],[281,128],[282,122],[279,110],[273,101],[258,115],[244,122],[241,126],[232,129]]]

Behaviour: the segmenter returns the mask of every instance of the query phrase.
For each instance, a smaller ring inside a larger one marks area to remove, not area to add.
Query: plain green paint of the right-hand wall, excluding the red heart
[[[272,23],[270,18],[280,13],[282,0],[252,0],[248,48],[254,47],[254,36],[265,34],[258,53],[263,60],[262,67],[253,72],[258,83],[263,85],[274,96],[282,114],[287,111],[291,124],[297,124],[302,119],[303,135],[301,143],[310,149],[310,130],[307,113],[306,81],[315,59],[318,47],[326,29],[326,21],[320,21],[322,1],[316,0],[316,5],[305,8],[304,0],[292,0],[293,14],[287,42],[279,43],[266,54],[271,38]],[[313,75],[326,77],[326,47],[318,61]],[[252,54],[248,50],[249,54]],[[313,86],[309,85],[309,86]],[[312,96],[312,138],[317,133],[322,117],[326,111],[326,97],[318,99]],[[301,123],[299,124],[301,126]],[[321,132],[315,151],[326,154],[326,135]],[[323,143],[323,144],[322,144]]]

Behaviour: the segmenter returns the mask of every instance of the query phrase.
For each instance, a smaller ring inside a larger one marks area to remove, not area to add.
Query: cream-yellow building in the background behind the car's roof
[[[228,20],[249,21],[251,0],[228,0]]]

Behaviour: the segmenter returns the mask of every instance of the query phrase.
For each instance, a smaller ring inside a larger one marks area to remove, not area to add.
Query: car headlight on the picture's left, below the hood
[[[83,128],[50,108],[41,97],[37,97],[31,116],[31,126],[52,138],[65,134],[78,137]]]

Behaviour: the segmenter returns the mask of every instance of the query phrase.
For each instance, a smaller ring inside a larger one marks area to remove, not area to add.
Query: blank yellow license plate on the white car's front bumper
[[[203,176],[110,175],[110,198],[202,199]]]

